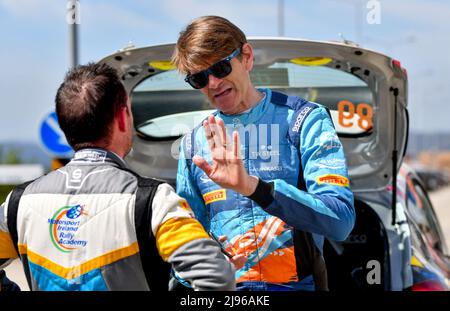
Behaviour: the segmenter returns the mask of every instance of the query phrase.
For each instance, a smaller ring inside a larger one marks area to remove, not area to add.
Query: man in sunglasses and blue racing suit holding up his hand
[[[237,288],[327,290],[324,237],[346,239],[355,221],[327,110],[256,89],[253,48],[222,17],[188,25],[173,62],[217,108],[182,140],[177,193],[228,252],[245,256]]]

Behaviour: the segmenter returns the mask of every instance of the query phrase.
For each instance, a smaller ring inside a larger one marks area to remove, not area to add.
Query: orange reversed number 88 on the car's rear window
[[[341,100],[338,103],[339,125],[342,127],[352,127],[355,117],[355,105],[348,100]],[[368,132],[373,127],[373,109],[369,104],[359,103],[356,105],[358,114],[358,127]]]

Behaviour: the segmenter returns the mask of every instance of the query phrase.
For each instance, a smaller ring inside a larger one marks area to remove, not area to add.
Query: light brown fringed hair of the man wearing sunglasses
[[[191,73],[194,68],[207,67],[227,57],[245,43],[242,30],[226,18],[202,16],[180,32],[172,62],[181,73]]]

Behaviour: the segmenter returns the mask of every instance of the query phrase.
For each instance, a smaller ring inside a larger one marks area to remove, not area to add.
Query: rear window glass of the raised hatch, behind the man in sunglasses
[[[373,95],[362,79],[343,71],[333,59],[302,57],[256,65],[257,88],[297,95],[330,109],[342,137],[371,135]],[[192,89],[175,70],[157,71],[131,93],[135,128],[143,138],[173,139],[191,131],[214,111],[207,98]]]

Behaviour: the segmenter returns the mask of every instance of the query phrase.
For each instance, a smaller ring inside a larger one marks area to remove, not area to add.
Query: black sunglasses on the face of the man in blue
[[[189,83],[194,89],[202,89],[208,85],[209,75],[212,74],[218,79],[225,78],[231,73],[231,60],[238,56],[241,52],[240,48],[237,48],[230,55],[217,63],[211,65],[208,69],[202,70],[194,74],[188,74],[184,81]]]

